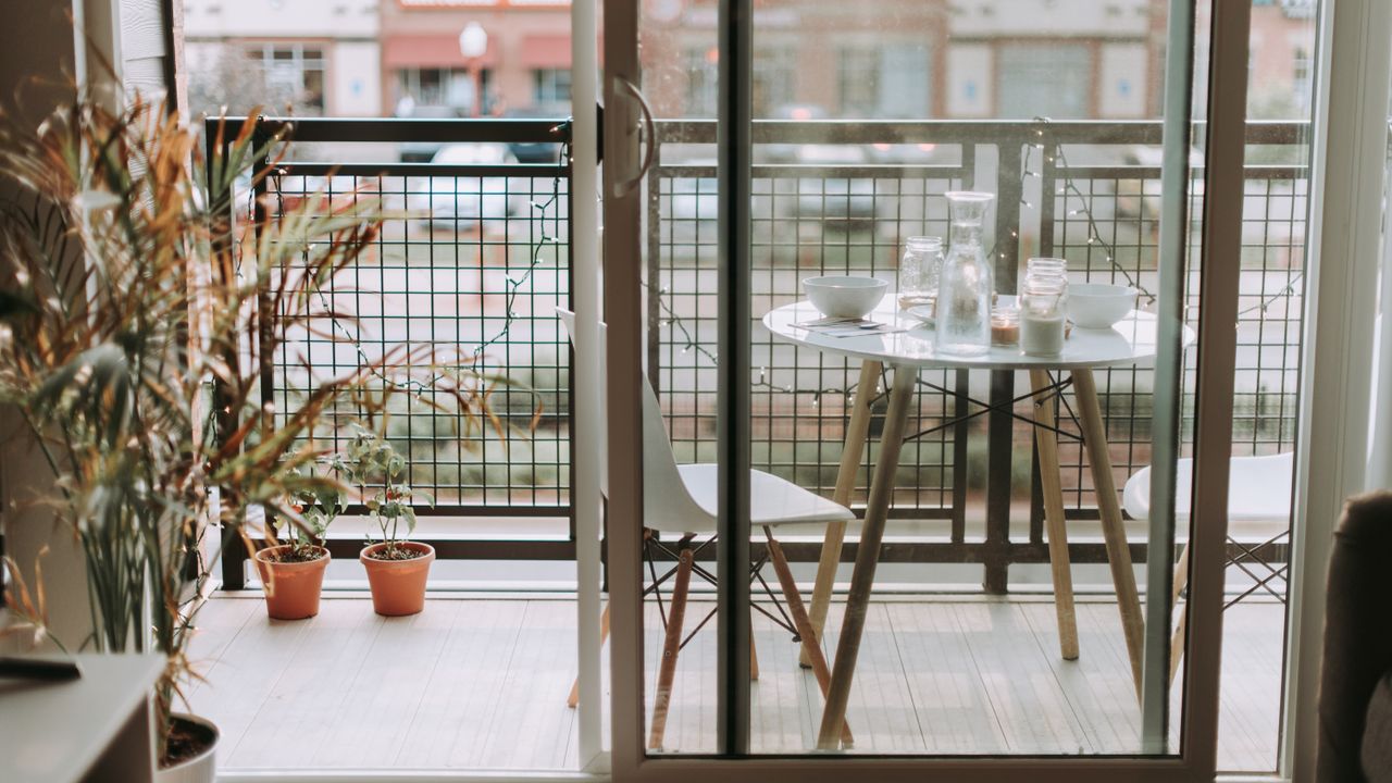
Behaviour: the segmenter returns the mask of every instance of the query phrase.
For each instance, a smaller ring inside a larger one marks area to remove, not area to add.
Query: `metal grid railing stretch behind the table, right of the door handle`
[[[998,150],[1011,145],[1023,148],[1023,170],[1013,173],[997,171],[991,162],[980,169],[967,166],[976,155],[969,153],[970,145],[965,144],[959,145],[963,166],[952,174],[924,176],[910,167],[885,171],[873,166],[756,164],[753,312],[763,313],[802,298],[800,279],[805,276],[856,273],[894,280],[903,238],[944,235],[948,223],[942,192],[973,180],[980,184],[983,173],[988,178],[994,176],[997,192],[1002,194],[1015,192],[1005,185],[1016,183],[1006,180],[1019,177],[1022,220],[1015,234],[998,241],[1018,242],[1022,266],[1026,255],[1062,256],[1069,261],[1075,281],[1133,284],[1141,290],[1141,304],[1147,304],[1148,294],[1158,288],[1160,171],[1155,166],[1128,160],[1128,156],[1143,145],[1155,145],[1158,135],[1141,125],[1097,124],[1096,138],[1089,138],[1086,131],[1080,137],[1076,130],[1065,130],[1068,144],[1044,145],[1040,142],[1048,141],[1044,135],[1048,127],[1041,128],[1002,125],[976,145]],[[855,135],[853,131],[832,132]],[[1292,137],[1289,128],[1258,132]],[[1292,137],[1278,144],[1295,141]],[[855,146],[855,141],[845,146]],[[1083,163],[1069,164],[1069,153]],[[717,458],[714,364],[718,357],[709,350],[717,329],[714,176],[714,167],[671,164],[656,167],[649,178],[649,294],[656,300],[650,309],[649,373],[660,389],[674,447],[683,461]],[[1197,323],[1201,263],[1197,245],[1200,177],[1196,171],[1190,203],[1186,318],[1192,326]],[[1235,454],[1239,456],[1293,446],[1304,255],[1303,177],[1299,166],[1253,166],[1247,171],[1235,408]],[[754,334],[750,368],[754,465],[830,496],[859,366],[774,343],[757,325]],[[1193,361],[1190,354],[1182,389],[1186,444],[1193,435]],[[955,379],[938,372],[924,373],[923,380],[917,414],[919,426],[926,429],[949,418],[955,410],[952,394],[930,392],[926,386],[951,390]],[[1112,369],[1098,372],[1097,380],[1116,486],[1121,488],[1150,463],[1154,372],[1148,368]],[[1025,382],[1016,379],[1016,394],[1023,387]],[[881,397],[876,411],[883,414],[883,410]],[[1030,403],[1022,401],[1016,412],[1029,417]],[[981,417],[967,426],[940,431],[906,444],[894,500],[899,515],[931,518],[960,513],[954,509],[954,482],[966,482],[969,486],[956,489],[976,493],[976,483],[987,472],[980,451],[986,419]],[[871,453],[862,463],[853,504],[863,504],[867,493],[867,465],[873,463],[878,424],[878,419],[871,424]],[[1068,429],[1070,424],[1063,426]],[[955,449],[958,437],[967,437],[972,447]],[[1011,486],[1019,502],[1030,488],[1030,428],[1016,424],[1013,440]],[[1070,514],[1096,515],[1083,449],[1076,440],[1065,439],[1061,458]],[[955,472],[956,468],[960,471]],[[1030,541],[1043,541],[1041,525],[1038,520],[1034,522]],[[960,541],[958,531],[954,541]]]

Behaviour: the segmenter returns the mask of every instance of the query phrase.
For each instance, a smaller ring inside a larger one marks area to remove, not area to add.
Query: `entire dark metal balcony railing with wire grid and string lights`
[[[554,307],[568,301],[571,274],[569,171],[560,153],[568,128],[565,120],[296,120],[291,138],[301,149],[347,142],[470,146],[434,163],[342,163],[331,153],[312,162],[305,149],[262,188],[267,210],[329,188],[342,199],[373,192],[393,212],[376,252],[352,272],[351,290],[324,291],[356,313],[344,326],[352,339],[334,346],[306,337],[294,355],[278,357],[276,382],[266,389],[278,411],[290,410],[303,385],[302,359],[315,372],[333,372],[402,339],[476,348],[482,369],[515,382],[494,397],[509,424],[523,426],[541,404],[536,429],[507,443],[484,437],[465,444],[464,422],[429,405],[395,412],[388,436],[409,454],[413,486],[437,496],[434,514],[569,515],[569,351],[554,318]],[[647,177],[646,359],[683,461],[715,457],[709,350],[717,312],[714,130],[713,121],[658,123],[657,164]],[[1296,435],[1303,132],[1297,123],[1249,125],[1243,254],[1215,261],[1243,268],[1235,405],[1235,451],[1242,454],[1289,450]],[[1002,293],[1013,293],[1025,256],[1051,255],[1069,259],[1075,280],[1130,283],[1144,301],[1157,287],[1160,137],[1154,121],[759,121],[753,311],[800,298],[799,281],[809,274],[894,279],[906,237],[947,233],[942,194],[954,188],[998,195],[991,241]],[[505,148],[533,155],[537,145],[555,157],[489,157]],[[379,157],[388,155],[395,156]],[[1200,215],[1201,199],[1201,183],[1194,183],[1192,216]],[[1197,223],[1194,228],[1192,281],[1203,263]],[[1197,286],[1189,291],[1196,318]],[[754,465],[830,495],[859,368],[774,343],[757,327],[754,334]],[[1190,371],[1186,412],[1193,382]],[[1098,375],[1118,486],[1148,463],[1151,383],[1148,369]],[[1001,410],[938,428],[977,412],[966,401],[969,386],[980,392],[973,397]],[[927,535],[892,543],[885,560],[980,563],[988,589],[1004,589],[1012,563],[1047,561],[1031,431],[1008,412],[1020,392],[1012,373],[922,375],[916,411],[923,432],[901,460],[894,513],[926,521],[915,529]],[[1027,404],[1018,403],[1016,412],[1029,415]],[[1190,425],[1186,419],[1186,436]],[[1061,451],[1069,515],[1096,517],[1080,444],[1065,439]],[[867,479],[864,470],[853,506],[863,503]],[[984,525],[981,514],[969,514],[983,504]],[[425,538],[430,525],[429,518],[422,522]],[[1076,561],[1102,557],[1100,543],[1072,546]],[[437,548],[443,557],[574,552],[572,542],[560,541]],[[788,549],[816,559],[813,542]],[[846,548],[848,559],[853,549]],[[1267,557],[1282,555],[1281,545],[1264,550]],[[1134,545],[1133,556],[1143,560],[1144,545]]]

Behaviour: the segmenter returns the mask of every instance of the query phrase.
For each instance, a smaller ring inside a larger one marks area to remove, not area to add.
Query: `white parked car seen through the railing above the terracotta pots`
[[[430,159],[444,166],[509,166],[518,159],[501,142],[448,144]],[[406,210],[430,228],[473,228],[484,220],[503,220],[528,205],[526,180],[515,184],[498,176],[415,177]]]

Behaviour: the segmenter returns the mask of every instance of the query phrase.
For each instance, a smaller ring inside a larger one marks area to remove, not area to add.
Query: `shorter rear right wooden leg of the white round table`
[[[1073,609],[1073,573],[1068,559],[1068,524],[1063,518],[1063,488],[1058,468],[1058,397],[1047,371],[1031,369],[1034,389],[1034,446],[1040,454],[1040,488],[1044,495],[1044,524],[1048,527],[1048,561],[1054,574],[1054,612],[1058,614],[1058,646],[1065,660],[1077,660],[1077,613]]]

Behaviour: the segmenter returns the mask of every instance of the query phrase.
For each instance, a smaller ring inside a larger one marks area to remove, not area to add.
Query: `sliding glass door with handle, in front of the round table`
[[[1211,777],[1250,11],[607,3],[618,779]]]

